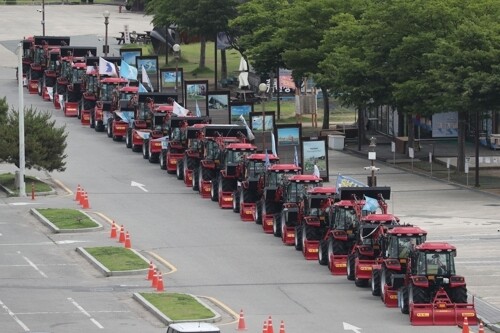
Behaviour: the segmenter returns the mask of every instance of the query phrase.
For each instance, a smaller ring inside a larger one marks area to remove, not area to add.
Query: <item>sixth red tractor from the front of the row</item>
[[[323,185],[323,179],[315,175],[295,175],[284,179],[281,186],[283,205],[279,218],[274,219],[275,236],[281,236],[285,245],[295,243],[296,230],[302,222],[304,214],[304,199],[309,190]],[[300,239],[300,237],[299,237]]]

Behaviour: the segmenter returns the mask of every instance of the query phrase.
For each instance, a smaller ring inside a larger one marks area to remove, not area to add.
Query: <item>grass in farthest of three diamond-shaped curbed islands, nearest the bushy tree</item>
[[[85,229],[99,226],[90,217],[76,209],[43,208],[37,211],[59,229]]]

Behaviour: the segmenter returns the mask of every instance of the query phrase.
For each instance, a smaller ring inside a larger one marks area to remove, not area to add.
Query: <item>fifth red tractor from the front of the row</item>
[[[335,187],[314,187],[306,193],[302,222],[295,229],[295,249],[307,260],[318,259],[319,242],[326,233],[336,192]]]

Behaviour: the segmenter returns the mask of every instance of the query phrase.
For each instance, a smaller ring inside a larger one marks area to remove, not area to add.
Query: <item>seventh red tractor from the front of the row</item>
[[[272,164],[266,169],[259,179],[257,187],[257,199],[255,203],[255,223],[262,224],[266,234],[274,233],[278,236],[279,231],[273,230],[274,219],[281,213],[283,196],[281,185],[284,179],[298,175],[302,169],[295,164]]]

